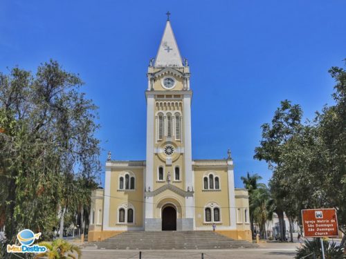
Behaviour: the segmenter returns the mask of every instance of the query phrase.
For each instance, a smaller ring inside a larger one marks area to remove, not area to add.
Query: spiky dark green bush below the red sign
[[[325,248],[325,259],[344,259],[346,254],[344,253],[343,247],[336,245],[335,242],[329,242],[328,240],[323,240],[323,247]],[[319,238],[314,238],[312,241],[305,240],[302,247],[297,250],[295,255],[296,259],[304,258],[311,253],[315,253],[316,259],[322,258],[321,242]],[[313,258],[313,256],[308,256],[308,258]]]

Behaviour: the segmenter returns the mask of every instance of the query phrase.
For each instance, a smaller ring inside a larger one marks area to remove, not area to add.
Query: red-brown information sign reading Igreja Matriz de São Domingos
[[[335,209],[302,209],[304,236],[309,238],[338,236]]]

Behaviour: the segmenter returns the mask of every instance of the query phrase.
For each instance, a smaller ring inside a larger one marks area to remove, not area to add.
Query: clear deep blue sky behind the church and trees
[[[16,1],[0,2],[0,70],[35,71],[55,59],[85,81],[100,107],[104,162],[145,160],[149,58],[171,21],[192,71],[192,157],[224,158],[241,175],[271,177],[253,160],[280,101],[311,118],[331,104],[327,70],[346,58],[345,0]],[[104,173],[102,174],[102,178]]]

